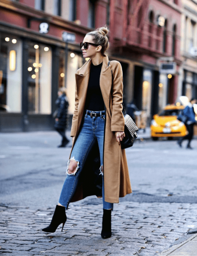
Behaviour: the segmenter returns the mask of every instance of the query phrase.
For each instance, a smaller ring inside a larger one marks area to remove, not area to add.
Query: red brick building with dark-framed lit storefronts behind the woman
[[[135,99],[150,119],[177,97],[180,5],[180,0],[0,0],[0,104],[8,110],[0,111],[0,131],[53,129],[61,86],[67,88],[72,116],[74,74],[85,61],[80,42],[106,23],[109,58],[123,67],[124,102]],[[65,32],[76,37],[67,46]],[[177,70],[168,79],[159,73],[158,60],[171,56]]]

